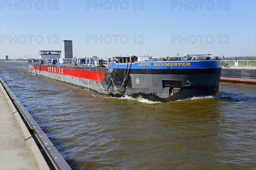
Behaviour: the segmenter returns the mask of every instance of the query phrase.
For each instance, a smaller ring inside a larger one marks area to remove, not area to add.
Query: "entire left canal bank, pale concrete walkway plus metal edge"
[[[0,77],[0,170],[71,170]]]

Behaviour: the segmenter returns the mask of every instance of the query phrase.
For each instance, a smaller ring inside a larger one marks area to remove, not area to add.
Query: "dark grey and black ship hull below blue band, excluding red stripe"
[[[125,72],[125,69],[99,66],[96,68],[75,65],[43,65],[45,67],[93,71],[93,74],[105,73],[105,75],[102,81],[99,82],[98,80],[81,78],[79,75],[70,76],[44,71],[41,69],[40,64],[37,64],[37,69],[34,68],[35,64],[29,64],[29,70],[33,74],[79,85],[100,94],[115,97],[124,95],[132,97],[142,96],[145,99],[160,102],[175,101],[194,96],[218,96],[218,82],[221,74],[221,68],[127,69]],[[127,75],[127,79],[124,81],[125,75]],[[111,82],[111,78],[113,82]]]

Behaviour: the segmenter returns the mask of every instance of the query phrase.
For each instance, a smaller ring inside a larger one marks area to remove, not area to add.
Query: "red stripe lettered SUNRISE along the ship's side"
[[[61,67],[49,67],[49,66],[43,66],[43,65],[41,66],[33,65],[33,68],[35,70],[47,71],[50,73],[64,74],[67,76],[80,77],[84,79],[91,79],[91,80],[98,81],[97,71],[79,70],[79,69],[61,68]],[[99,73],[99,81],[102,81],[105,75],[105,72],[98,71],[98,73]]]

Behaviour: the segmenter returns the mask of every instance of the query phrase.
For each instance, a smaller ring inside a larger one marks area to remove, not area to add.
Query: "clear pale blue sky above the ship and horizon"
[[[62,40],[76,57],[256,56],[256,1],[1,0],[0,34],[1,59],[37,58]]]

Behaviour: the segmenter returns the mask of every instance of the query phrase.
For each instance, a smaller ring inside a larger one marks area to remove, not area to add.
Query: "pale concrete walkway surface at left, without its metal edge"
[[[0,170],[49,170],[35,140],[30,136],[0,84]]]

